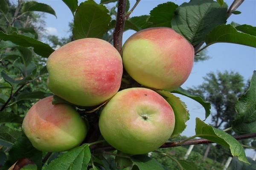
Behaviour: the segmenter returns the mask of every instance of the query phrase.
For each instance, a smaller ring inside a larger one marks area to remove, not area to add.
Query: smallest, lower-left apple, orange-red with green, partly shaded
[[[39,100],[29,109],[22,129],[36,149],[47,152],[76,147],[87,134],[79,113],[67,104],[52,105],[52,96]]]

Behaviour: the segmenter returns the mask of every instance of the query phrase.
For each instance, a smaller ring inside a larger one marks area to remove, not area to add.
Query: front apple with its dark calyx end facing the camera
[[[134,155],[156,150],[169,139],[174,127],[172,107],[147,88],[117,92],[99,117],[104,139],[117,150]]]

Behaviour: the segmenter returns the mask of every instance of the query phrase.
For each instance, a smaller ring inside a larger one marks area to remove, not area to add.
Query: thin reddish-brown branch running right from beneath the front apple
[[[245,135],[239,135],[239,136],[233,136],[236,140],[243,140],[243,139],[249,139],[256,137],[256,133],[249,133]],[[192,145],[192,144],[209,144],[214,143],[207,139],[194,139],[189,140],[186,142],[182,141],[175,141],[175,142],[166,142],[161,146],[161,148],[167,148],[167,147],[178,147],[178,146],[186,146],[186,145]],[[104,147],[97,147],[95,148],[95,152],[102,152],[102,150],[114,150],[112,146],[104,146]]]

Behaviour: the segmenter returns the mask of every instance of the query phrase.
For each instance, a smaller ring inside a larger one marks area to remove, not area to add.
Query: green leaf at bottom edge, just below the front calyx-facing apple
[[[140,170],[164,170],[163,165],[146,155],[135,155],[131,160]]]

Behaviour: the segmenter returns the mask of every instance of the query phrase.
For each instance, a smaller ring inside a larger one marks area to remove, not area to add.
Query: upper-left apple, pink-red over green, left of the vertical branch
[[[84,38],[54,51],[47,70],[47,86],[55,95],[75,105],[96,106],[119,90],[122,58],[110,43]]]

